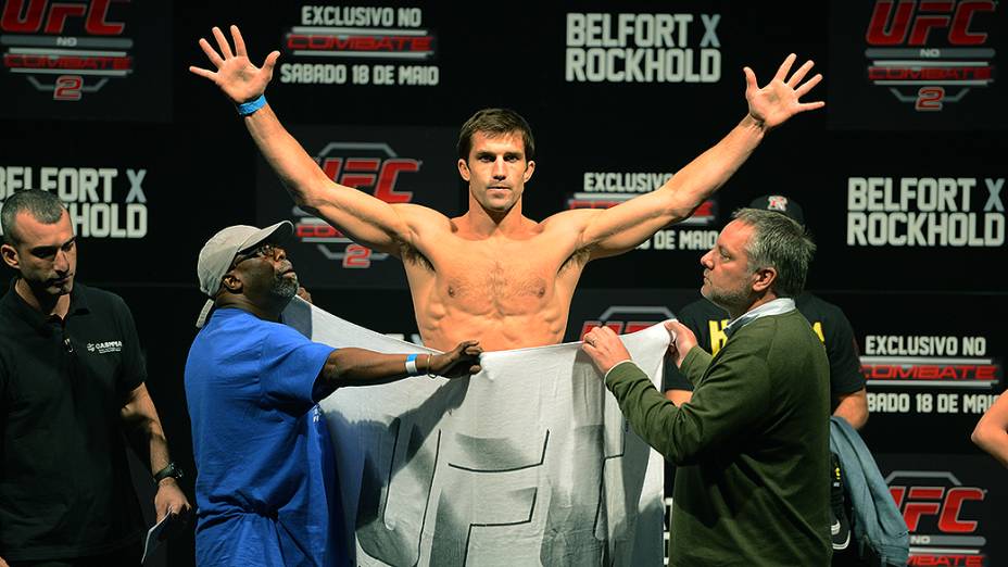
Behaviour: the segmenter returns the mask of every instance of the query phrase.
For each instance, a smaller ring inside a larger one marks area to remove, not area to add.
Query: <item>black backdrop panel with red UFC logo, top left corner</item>
[[[171,121],[171,15],[169,1],[8,0],[0,115]]]

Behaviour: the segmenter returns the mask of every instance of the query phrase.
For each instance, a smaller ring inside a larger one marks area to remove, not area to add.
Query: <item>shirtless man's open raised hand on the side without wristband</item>
[[[749,67],[742,70],[745,73],[745,100],[749,105],[749,116],[768,130],[780,126],[799,112],[821,109],[826,105],[822,101],[798,101],[822,80],[822,75],[816,74],[812,78],[802,83],[814,65],[812,61],[808,60],[794,72],[794,75],[791,75],[791,78],[788,78],[795,59],[797,55],[794,53],[788,55],[777,70],[777,75],[763,88],[756,84],[756,74],[753,70]]]

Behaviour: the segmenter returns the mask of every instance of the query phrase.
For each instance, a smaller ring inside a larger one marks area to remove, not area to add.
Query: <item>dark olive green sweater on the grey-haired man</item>
[[[676,407],[634,364],[606,377],[633,430],[676,465],[670,565],[829,565],[830,366],[797,311],[756,318],[680,370]]]

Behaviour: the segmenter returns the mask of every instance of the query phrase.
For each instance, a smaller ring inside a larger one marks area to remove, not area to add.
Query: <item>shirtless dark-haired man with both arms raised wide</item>
[[[480,111],[463,126],[458,144],[469,209],[449,218],[416,204],[386,203],[327,177],[261,98],[280,53],[269,53],[256,67],[238,27],[230,32],[234,51],[217,27],[213,35],[219,53],[200,39],[216,71],[189,71],[240,104],[253,140],[299,206],[354,242],[402,259],[420,337],[442,351],[470,338],[488,351],[560,342],[589,262],[633,250],[668,224],[688,218],[767,131],[824,104],[798,101],[822,79],[815,75],[803,83],[811,61],[789,78],[795,61],[789,55],[763,88],[745,67],[748,113],[664,186],[612,209],[564,211],[542,222],[521,214],[521,193],[536,171],[528,124],[511,111]]]

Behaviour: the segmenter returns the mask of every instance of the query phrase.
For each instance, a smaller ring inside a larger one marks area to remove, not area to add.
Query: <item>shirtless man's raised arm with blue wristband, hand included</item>
[[[230,29],[234,52],[217,27],[213,28],[213,35],[219,53],[206,39],[200,38],[200,47],[216,71],[197,66],[190,66],[189,71],[212,80],[239,105],[252,139],[299,206],[325,218],[360,244],[399,255],[399,244],[413,240],[410,225],[400,216],[400,211],[326,176],[265,103],[263,93],[273,78],[280,52],[269,53],[263,66],[256,67],[249,60],[238,26]]]

